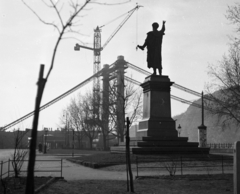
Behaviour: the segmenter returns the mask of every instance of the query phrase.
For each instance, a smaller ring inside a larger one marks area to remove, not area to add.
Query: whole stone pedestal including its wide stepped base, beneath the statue
[[[137,137],[131,139],[133,154],[208,154],[209,148],[199,148],[198,142],[178,137],[171,117],[171,85],[168,76],[151,75],[143,84],[143,119]],[[112,153],[122,153],[125,145],[111,147]]]

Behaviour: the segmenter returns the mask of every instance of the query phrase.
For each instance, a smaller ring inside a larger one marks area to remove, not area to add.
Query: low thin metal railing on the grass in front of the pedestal
[[[178,172],[177,174],[211,174],[211,172],[222,173],[232,169],[233,158],[231,156],[151,156],[142,157],[136,156],[136,171],[137,177],[140,177],[140,171],[143,173],[145,169],[165,174],[170,173],[170,170]],[[157,169],[159,169],[157,171]],[[162,169],[162,170],[161,170]],[[144,173],[146,174],[146,173]],[[154,173],[150,173],[154,174]],[[156,174],[156,173],[155,173]]]

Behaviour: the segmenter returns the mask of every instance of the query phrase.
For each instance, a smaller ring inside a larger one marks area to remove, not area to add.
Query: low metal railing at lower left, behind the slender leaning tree
[[[12,174],[14,174],[14,169],[11,164],[12,162],[13,160],[10,160],[10,159],[4,162],[3,161],[0,162],[0,170],[1,170],[0,179],[9,177]],[[28,160],[23,160],[23,162],[28,162]],[[41,164],[44,162],[48,162],[49,164],[54,162],[60,162],[60,165],[55,167],[48,164],[48,166],[46,165],[42,167]],[[34,173],[37,173],[37,172],[38,173],[45,173],[45,172],[60,173],[60,177],[62,177],[62,172],[63,172],[62,167],[63,167],[62,159],[61,160],[35,160]],[[25,168],[23,166],[21,169],[21,173],[26,173],[26,172],[27,172],[27,165],[25,165]]]

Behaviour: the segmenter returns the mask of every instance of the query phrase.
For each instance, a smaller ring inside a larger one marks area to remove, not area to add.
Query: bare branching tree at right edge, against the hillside
[[[228,6],[226,18],[236,25],[239,36],[239,3]],[[216,65],[209,66],[213,80],[207,85],[206,108],[223,127],[228,123],[240,124],[240,39],[237,36],[231,39],[228,53]]]

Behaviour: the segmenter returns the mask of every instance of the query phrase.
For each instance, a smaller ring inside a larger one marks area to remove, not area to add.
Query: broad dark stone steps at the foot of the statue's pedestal
[[[142,137],[131,138],[132,154],[209,154],[209,148],[199,148],[197,142],[187,142],[187,137]],[[125,142],[111,147],[111,153],[125,153]]]

